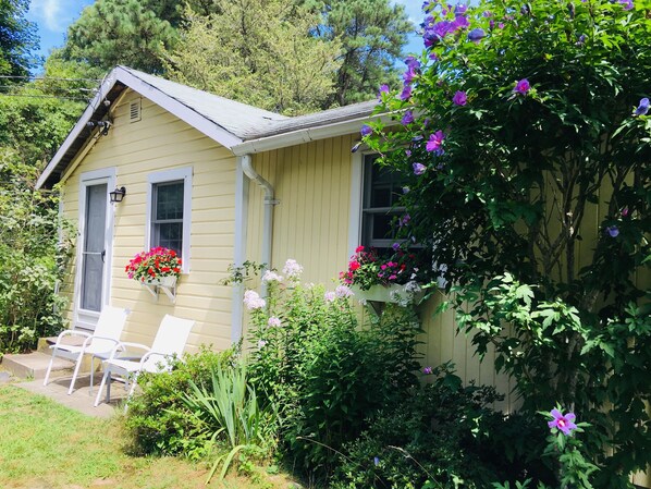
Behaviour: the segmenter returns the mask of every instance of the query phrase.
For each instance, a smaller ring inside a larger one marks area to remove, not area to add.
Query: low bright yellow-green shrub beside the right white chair
[[[171,360],[172,368],[164,375],[144,372],[138,378],[142,394],[132,399],[126,414],[131,450],[140,455],[205,456],[211,433],[188,409],[184,396],[192,393],[192,383],[212,382],[213,370],[229,365],[233,355],[233,350],[217,353],[202,347]]]

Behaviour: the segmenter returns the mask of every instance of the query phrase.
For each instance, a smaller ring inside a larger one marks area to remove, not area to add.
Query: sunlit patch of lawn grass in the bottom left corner
[[[0,387],[0,488],[198,489],[207,465],[133,457],[119,417],[96,419],[13,386]],[[287,489],[285,477],[214,480],[209,488]]]

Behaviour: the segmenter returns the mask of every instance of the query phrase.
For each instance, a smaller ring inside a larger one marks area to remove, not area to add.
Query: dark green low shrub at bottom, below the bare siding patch
[[[464,387],[450,364],[433,375],[343,447],[333,489],[484,488],[537,472],[544,431],[493,411],[494,388]]]

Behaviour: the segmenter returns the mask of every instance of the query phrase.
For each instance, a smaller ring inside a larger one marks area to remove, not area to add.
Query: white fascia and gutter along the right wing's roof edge
[[[270,151],[272,149],[296,146],[311,140],[327,139],[329,137],[344,136],[346,134],[359,133],[361,125],[369,121],[380,120],[386,125],[394,125],[397,121],[391,119],[391,114],[366,115],[349,121],[335,122],[332,124],[307,127],[273,136],[251,139],[231,147],[236,156],[244,156],[253,152]]]

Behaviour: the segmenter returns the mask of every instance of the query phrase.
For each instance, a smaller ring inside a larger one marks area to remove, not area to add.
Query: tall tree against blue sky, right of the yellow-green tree
[[[396,84],[395,62],[414,29],[403,5],[389,0],[306,0],[304,4],[323,16],[315,35],[342,42],[336,89],[327,107],[369,100],[381,84]]]

